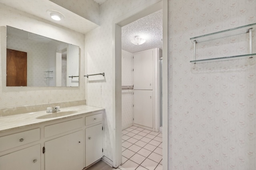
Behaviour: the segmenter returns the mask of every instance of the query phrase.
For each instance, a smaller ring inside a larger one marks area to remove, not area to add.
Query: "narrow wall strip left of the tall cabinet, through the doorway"
[[[133,85],[133,54],[122,50],[122,86]],[[122,129],[133,124],[133,90],[122,90]]]

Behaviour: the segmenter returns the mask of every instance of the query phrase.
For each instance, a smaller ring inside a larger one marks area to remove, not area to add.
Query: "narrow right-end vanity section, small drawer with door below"
[[[102,113],[85,117],[85,165],[102,158]]]

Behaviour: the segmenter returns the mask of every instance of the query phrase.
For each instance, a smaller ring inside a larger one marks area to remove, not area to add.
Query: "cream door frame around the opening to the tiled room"
[[[144,16],[163,9],[163,170],[168,169],[168,0],[150,0],[146,4],[117,18],[112,24],[113,58],[113,163],[117,168],[122,163],[122,46],[121,27]]]

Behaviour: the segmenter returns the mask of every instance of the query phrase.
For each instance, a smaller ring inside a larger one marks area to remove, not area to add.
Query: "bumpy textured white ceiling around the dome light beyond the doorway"
[[[162,15],[162,10],[159,10],[122,27],[122,49],[130,53],[153,48],[162,49]],[[146,39],[146,42],[142,45],[132,44],[130,39],[136,35]]]

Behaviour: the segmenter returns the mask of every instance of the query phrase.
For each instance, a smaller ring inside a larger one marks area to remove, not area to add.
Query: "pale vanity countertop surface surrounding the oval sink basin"
[[[75,110],[76,113],[73,113],[70,115],[64,115],[60,117],[48,118],[48,119],[37,119],[36,117],[47,115],[47,114],[54,114],[54,113],[46,113],[46,111],[38,111],[33,113],[25,113],[25,114],[0,117],[0,133],[3,131],[14,129],[14,128],[35,125],[38,123],[46,123],[48,121],[60,120],[60,119],[73,117],[81,114],[86,114],[89,112],[100,111],[104,109],[100,107],[93,107],[93,106],[86,106],[86,105],[60,108],[60,111],[68,111],[68,110]]]

